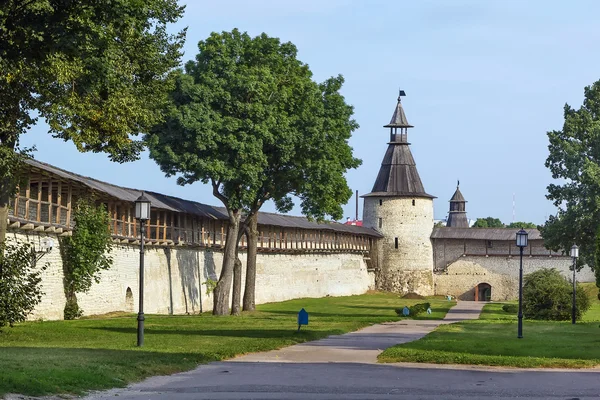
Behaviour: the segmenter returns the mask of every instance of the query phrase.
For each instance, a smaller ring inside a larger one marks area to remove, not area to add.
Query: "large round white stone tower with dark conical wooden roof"
[[[433,294],[434,196],[425,192],[408,143],[408,123],[402,108],[403,90],[392,120],[388,149],[371,193],[364,196],[363,226],[378,230],[379,289],[421,295]]]

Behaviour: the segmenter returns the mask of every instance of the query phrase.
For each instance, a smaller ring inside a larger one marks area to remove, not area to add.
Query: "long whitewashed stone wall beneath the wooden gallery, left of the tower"
[[[11,232],[11,241],[34,242],[39,248],[43,233]],[[42,302],[30,319],[62,319],[65,305],[60,244],[38,265],[49,263],[43,274]],[[113,311],[138,311],[139,247],[115,245],[113,266],[102,272],[101,281],[88,293],[77,295],[84,315]],[[204,283],[217,280],[223,255],[220,252],[191,247],[146,247],[144,312],[149,314],[185,314],[212,310],[212,296]],[[246,254],[240,253],[244,263]],[[245,270],[245,268],[244,268]],[[346,296],[365,293],[372,282],[361,254],[274,254],[257,257],[257,304],[299,297]],[[128,289],[131,295],[127,298]],[[243,291],[243,285],[242,285]],[[133,298],[131,298],[133,297]]]

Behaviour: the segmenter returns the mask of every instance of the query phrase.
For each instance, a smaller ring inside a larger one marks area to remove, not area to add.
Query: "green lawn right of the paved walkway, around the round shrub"
[[[523,339],[517,339],[517,316],[491,303],[479,320],[440,326],[418,341],[387,349],[379,360],[522,368],[600,365],[600,301],[594,284],[583,286],[592,307],[575,325],[524,320]]]

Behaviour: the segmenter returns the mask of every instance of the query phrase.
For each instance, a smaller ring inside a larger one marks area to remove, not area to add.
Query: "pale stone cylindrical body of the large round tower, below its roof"
[[[366,197],[363,225],[381,239],[379,289],[433,294],[433,201],[411,197]],[[396,241],[398,246],[396,248]]]

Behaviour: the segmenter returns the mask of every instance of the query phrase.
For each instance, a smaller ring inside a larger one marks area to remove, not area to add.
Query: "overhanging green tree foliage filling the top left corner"
[[[0,6],[0,167],[38,116],[80,151],[135,159],[162,118],[185,31],[176,0],[5,0]],[[0,168],[1,169],[1,168]],[[0,242],[10,170],[0,172]]]

